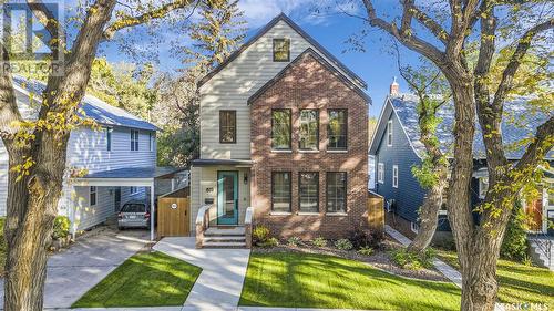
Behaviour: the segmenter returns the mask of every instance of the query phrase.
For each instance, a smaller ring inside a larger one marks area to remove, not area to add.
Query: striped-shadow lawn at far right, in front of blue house
[[[460,270],[455,252],[440,250],[438,256]],[[500,302],[554,305],[554,272],[548,269],[501,259],[496,263],[496,277]]]

